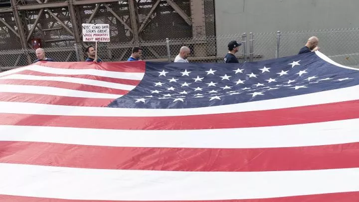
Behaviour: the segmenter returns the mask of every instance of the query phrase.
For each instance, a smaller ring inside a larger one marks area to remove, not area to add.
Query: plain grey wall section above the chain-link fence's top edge
[[[216,33],[359,27],[358,8],[359,0],[215,0]]]

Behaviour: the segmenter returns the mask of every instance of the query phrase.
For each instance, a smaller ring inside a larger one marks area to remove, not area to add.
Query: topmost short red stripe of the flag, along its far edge
[[[45,62],[34,63],[36,65],[60,68],[60,69],[99,69],[115,72],[145,72],[145,61],[133,62]]]

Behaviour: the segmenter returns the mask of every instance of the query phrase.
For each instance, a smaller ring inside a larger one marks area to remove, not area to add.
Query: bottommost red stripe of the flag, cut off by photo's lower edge
[[[331,193],[320,195],[305,195],[270,199],[244,200],[211,200],[211,201],[181,201],[181,202],[358,202],[359,192]],[[35,197],[20,197],[0,195],[0,202],[164,202],[164,201],[99,201],[99,200],[66,200]],[[166,201],[179,202],[179,201]]]

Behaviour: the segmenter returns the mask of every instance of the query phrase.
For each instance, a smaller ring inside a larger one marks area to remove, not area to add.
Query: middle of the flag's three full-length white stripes
[[[258,128],[171,131],[0,126],[0,141],[161,148],[305,147],[359,142],[359,127],[353,127],[357,125],[359,119]]]

